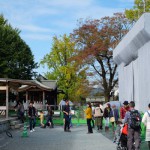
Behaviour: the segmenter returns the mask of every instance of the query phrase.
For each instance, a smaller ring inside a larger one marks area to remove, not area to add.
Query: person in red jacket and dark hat
[[[128,101],[124,101],[124,102],[123,102],[123,105],[124,105],[124,106],[122,106],[122,107],[120,108],[120,118],[121,118],[121,120],[124,120],[124,117],[125,117],[126,112],[130,110]]]

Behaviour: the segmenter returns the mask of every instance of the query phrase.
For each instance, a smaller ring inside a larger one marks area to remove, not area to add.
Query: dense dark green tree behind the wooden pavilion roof
[[[19,36],[20,31],[0,15],[0,77],[31,79],[37,64],[29,46]]]

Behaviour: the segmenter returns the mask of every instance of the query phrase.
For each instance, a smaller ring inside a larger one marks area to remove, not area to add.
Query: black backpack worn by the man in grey
[[[141,129],[141,116],[140,113],[137,110],[131,110],[130,111],[130,119],[131,119],[131,124],[130,127],[134,130],[139,130]]]

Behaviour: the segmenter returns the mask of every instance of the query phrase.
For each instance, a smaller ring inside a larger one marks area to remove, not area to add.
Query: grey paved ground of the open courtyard
[[[36,128],[29,137],[22,138],[21,131],[13,132],[13,138],[5,133],[0,134],[0,150],[115,150],[111,140],[94,130],[94,134],[86,134],[87,127],[72,128],[71,133],[63,132],[58,126],[54,129]]]

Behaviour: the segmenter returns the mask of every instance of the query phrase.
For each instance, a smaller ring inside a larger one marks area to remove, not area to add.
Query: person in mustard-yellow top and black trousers
[[[88,134],[93,133],[91,120],[92,120],[92,108],[91,103],[87,103],[87,108],[85,110],[86,119],[87,119],[87,126],[88,126]]]

